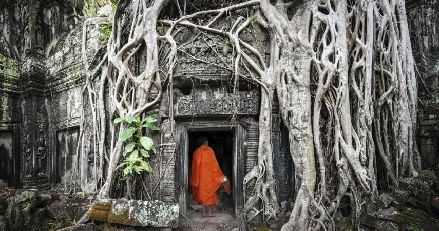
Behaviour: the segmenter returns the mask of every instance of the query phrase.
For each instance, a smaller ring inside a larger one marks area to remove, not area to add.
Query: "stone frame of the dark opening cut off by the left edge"
[[[0,131],[12,131],[12,165],[13,178],[12,184],[15,189],[21,188],[21,142],[20,142],[20,122],[0,121]]]

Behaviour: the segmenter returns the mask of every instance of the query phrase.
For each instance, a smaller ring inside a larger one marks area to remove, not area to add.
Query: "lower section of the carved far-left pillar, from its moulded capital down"
[[[23,188],[50,187],[49,123],[44,97],[44,66],[29,57],[22,67],[22,177]]]

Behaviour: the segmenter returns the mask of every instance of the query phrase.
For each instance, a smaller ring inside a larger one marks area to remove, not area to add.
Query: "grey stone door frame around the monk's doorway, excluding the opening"
[[[190,121],[176,120],[176,166],[175,166],[175,200],[180,205],[180,211],[187,215],[188,203],[188,173],[189,173],[189,132],[200,131],[232,131],[233,134],[233,185],[232,198],[235,215],[241,213],[244,205],[244,191],[242,183],[245,175],[245,146],[247,131],[239,124],[238,120],[230,121],[212,118],[200,119],[193,118]]]

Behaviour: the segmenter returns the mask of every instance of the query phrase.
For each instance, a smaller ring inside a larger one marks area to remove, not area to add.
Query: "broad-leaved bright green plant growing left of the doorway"
[[[114,120],[114,124],[120,122],[129,124],[119,136],[119,141],[127,142],[122,155],[126,157],[129,154],[128,157],[116,167],[116,169],[119,169],[125,166],[122,179],[125,179],[129,174],[133,174],[134,172],[137,174],[142,171],[152,172],[151,166],[143,158],[146,158],[147,160],[149,152],[152,151],[153,153],[156,153],[156,148],[154,147],[154,141],[151,138],[142,136],[142,130],[143,128],[155,131],[160,130],[160,128],[153,124],[157,121],[157,118],[158,115],[150,115],[144,119],[128,116],[116,118]]]

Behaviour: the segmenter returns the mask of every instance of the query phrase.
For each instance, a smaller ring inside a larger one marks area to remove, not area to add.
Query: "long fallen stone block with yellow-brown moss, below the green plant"
[[[89,218],[132,226],[178,227],[180,207],[176,203],[122,199],[99,199]]]

